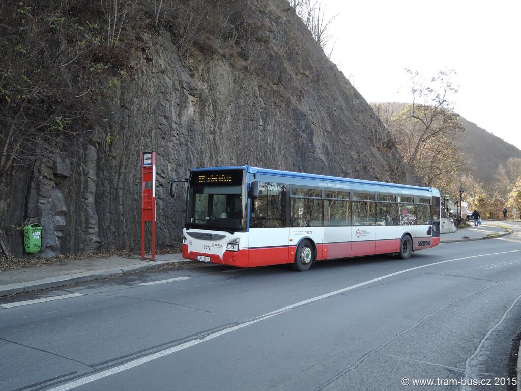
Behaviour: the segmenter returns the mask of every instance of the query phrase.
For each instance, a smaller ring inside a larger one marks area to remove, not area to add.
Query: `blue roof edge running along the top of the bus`
[[[296,173],[296,172],[292,172],[292,171],[283,171],[283,170],[250,167],[250,166],[204,167],[204,168],[193,168],[192,171],[197,172],[197,171],[206,171],[206,170],[226,170],[226,169],[244,169],[244,170],[246,170],[247,173],[258,174],[258,175],[272,175],[272,176],[295,178],[295,179],[312,179],[312,180],[314,179],[314,180],[343,182],[343,183],[352,184],[355,186],[356,185],[358,185],[358,186],[377,186],[377,187],[381,187],[381,188],[388,188],[389,190],[401,189],[401,190],[412,190],[412,191],[419,191],[419,192],[428,191],[430,193],[434,193],[433,195],[438,195],[438,196],[440,194],[440,192],[437,189],[430,188],[430,187],[402,185],[402,184],[394,184],[394,183],[389,183],[389,182],[378,182],[378,181],[364,180],[364,179],[342,178],[342,177],[334,177],[334,176],[328,176],[328,175]]]

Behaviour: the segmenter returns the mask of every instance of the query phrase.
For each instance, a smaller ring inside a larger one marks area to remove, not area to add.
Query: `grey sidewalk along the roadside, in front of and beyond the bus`
[[[490,225],[479,228],[458,229],[452,234],[441,234],[441,243],[488,239],[508,235],[512,231]],[[0,297],[45,288],[54,288],[72,283],[81,283],[96,278],[116,276],[141,270],[162,267],[175,262],[185,262],[181,253],[156,255],[156,261],[142,260],[139,255],[132,258],[122,256],[93,256],[0,272]]]

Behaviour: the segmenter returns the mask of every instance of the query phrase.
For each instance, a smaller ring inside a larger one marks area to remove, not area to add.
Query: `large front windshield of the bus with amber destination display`
[[[244,231],[243,170],[195,172],[188,189],[185,227]]]

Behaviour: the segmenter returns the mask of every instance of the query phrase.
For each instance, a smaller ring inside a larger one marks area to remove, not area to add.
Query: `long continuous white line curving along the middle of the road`
[[[446,260],[446,261],[434,262],[434,263],[429,263],[427,265],[411,267],[411,268],[408,268],[408,269],[405,269],[405,270],[401,270],[399,272],[395,272],[395,273],[387,274],[387,275],[384,275],[384,276],[381,276],[381,277],[373,278],[373,279],[367,280],[367,281],[365,281],[363,283],[351,285],[349,287],[346,287],[346,288],[343,288],[343,289],[339,289],[339,290],[335,290],[335,291],[330,292],[330,293],[325,294],[325,295],[316,296],[316,297],[311,298],[311,299],[307,299],[307,300],[300,301],[298,303],[291,304],[291,306],[279,308],[278,310],[268,312],[268,313],[266,313],[264,315],[261,315],[261,316],[255,318],[255,319],[252,319],[250,321],[246,321],[246,322],[241,323],[239,325],[236,325],[236,326],[233,326],[233,327],[229,327],[229,328],[225,328],[224,330],[221,330],[219,332],[207,335],[204,338],[192,339],[192,340],[187,341],[187,342],[185,342],[185,343],[183,343],[181,345],[173,346],[171,348],[168,348],[168,349],[165,349],[165,350],[153,353],[152,355],[145,356],[145,357],[142,357],[140,359],[133,360],[133,361],[129,361],[129,362],[125,363],[125,364],[117,365],[114,368],[110,368],[110,369],[107,369],[105,371],[101,371],[101,372],[95,373],[93,375],[80,378],[80,379],[75,380],[73,382],[66,383],[66,384],[58,386],[56,388],[52,388],[49,391],[68,391],[68,390],[70,390],[72,388],[76,388],[76,387],[79,387],[81,385],[94,382],[94,381],[99,380],[99,379],[101,379],[103,377],[107,377],[107,376],[113,375],[115,373],[119,373],[121,371],[125,371],[127,369],[134,368],[135,366],[144,364],[146,362],[150,362],[152,360],[155,360],[155,359],[158,359],[158,358],[162,358],[162,357],[171,355],[172,353],[178,352],[178,351],[183,350],[183,349],[187,349],[187,348],[192,347],[194,345],[198,345],[198,344],[200,344],[200,343],[202,343],[204,341],[213,339],[215,337],[231,333],[232,331],[238,330],[239,328],[243,328],[243,327],[249,326],[251,324],[254,324],[254,323],[266,320],[266,319],[268,319],[268,318],[270,318],[272,316],[279,315],[279,314],[281,314],[283,312],[286,312],[288,310],[291,310],[293,308],[302,307],[302,306],[305,306],[306,304],[313,303],[315,301],[322,300],[322,299],[325,299],[325,298],[328,298],[328,297],[331,297],[331,296],[335,296],[335,295],[341,294],[343,292],[346,292],[348,290],[355,289],[355,288],[358,288],[358,287],[361,287],[361,286],[364,286],[364,285],[368,285],[368,284],[374,283],[376,281],[380,281],[380,280],[385,279],[385,278],[389,278],[389,277],[393,277],[393,276],[396,276],[396,275],[399,275],[399,274],[411,272],[413,270],[418,270],[418,269],[421,269],[421,268],[424,268],[424,267],[440,265],[442,263],[453,262],[453,261],[461,261],[461,260],[469,259],[469,258],[478,258],[480,256],[507,254],[507,253],[511,253],[511,252],[520,252],[520,251],[521,250],[513,250],[513,251],[494,252],[494,253],[490,253],[490,254],[480,254],[480,255],[464,256],[463,258],[449,259],[449,260]]]

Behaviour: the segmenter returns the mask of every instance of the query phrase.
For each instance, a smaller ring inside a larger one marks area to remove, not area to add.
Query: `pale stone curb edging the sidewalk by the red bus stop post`
[[[23,283],[0,285],[0,297],[14,295],[22,292],[31,292],[34,290],[56,288],[59,286],[69,285],[73,283],[83,283],[93,279],[117,276],[143,270],[156,269],[175,262],[186,262],[188,260],[171,260],[171,261],[154,261],[146,263],[138,263],[130,266],[113,267],[110,269],[96,270],[93,272],[68,274],[60,277],[51,277],[44,279],[36,279]]]

